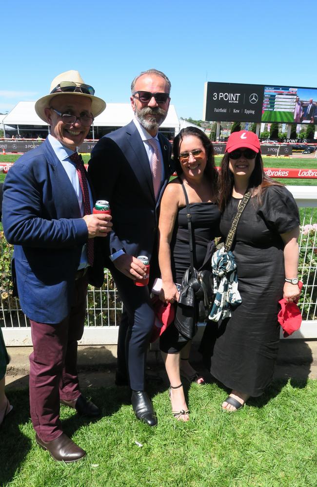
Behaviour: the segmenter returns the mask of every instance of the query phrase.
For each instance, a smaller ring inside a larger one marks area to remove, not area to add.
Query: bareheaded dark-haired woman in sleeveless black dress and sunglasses
[[[173,153],[178,178],[164,191],[158,224],[158,262],[162,278],[159,298],[166,303],[178,301],[175,283],[181,283],[190,265],[187,211],[181,181],[190,204],[195,236],[194,265],[198,270],[210,268],[208,249],[219,234],[220,218],[216,204],[218,173],[208,137],[194,127],[182,129],[174,139]],[[159,345],[171,384],[172,412],[178,420],[188,421],[180,375],[190,382],[204,383],[188,361],[191,342],[171,323],[161,335]]]

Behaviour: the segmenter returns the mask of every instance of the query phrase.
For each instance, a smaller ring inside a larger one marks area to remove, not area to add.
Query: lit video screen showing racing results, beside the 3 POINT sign
[[[317,89],[265,86],[262,122],[316,123]]]

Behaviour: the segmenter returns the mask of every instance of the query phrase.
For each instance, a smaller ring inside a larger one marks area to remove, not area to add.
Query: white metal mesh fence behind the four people
[[[317,187],[289,186],[300,211],[299,277],[303,289],[299,302],[302,313],[301,329],[293,338],[317,338]],[[12,298],[10,257],[12,246],[0,235],[0,299],[1,327],[8,346],[32,345],[30,325],[20,309],[17,298]],[[90,287],[87,294],[87,319],[81,344],[115,344],[122,303],[114,282],[105,271],[105,282],[100,289]],[[200,335],[200,334],[199,334]]]

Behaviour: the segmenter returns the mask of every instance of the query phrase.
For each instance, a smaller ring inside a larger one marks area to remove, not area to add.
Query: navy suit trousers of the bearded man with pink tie
[[[119,325],[118,369],[128,371],[130,387],[144,391],[146,352],[154,324],[149,287],[136,286],[113,265],[111,274],[123,301],[123,313]]]

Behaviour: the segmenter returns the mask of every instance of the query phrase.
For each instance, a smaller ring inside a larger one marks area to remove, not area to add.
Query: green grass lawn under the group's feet
[[[87,451],[55,462],[34,439],[28,393],[10,394],[15,412],[1,429],[0,485],[15,487],[315,487],[317,381],[275,382],[236,413],[226,392],[193,384],[190,420],[176,421],[167,391],[153,393],[158,427],[134,418],[126,388],[91,390],[102,406],[89,424],[61,407],[64,431]],[[139,442],[142,446],[138,446]]]

